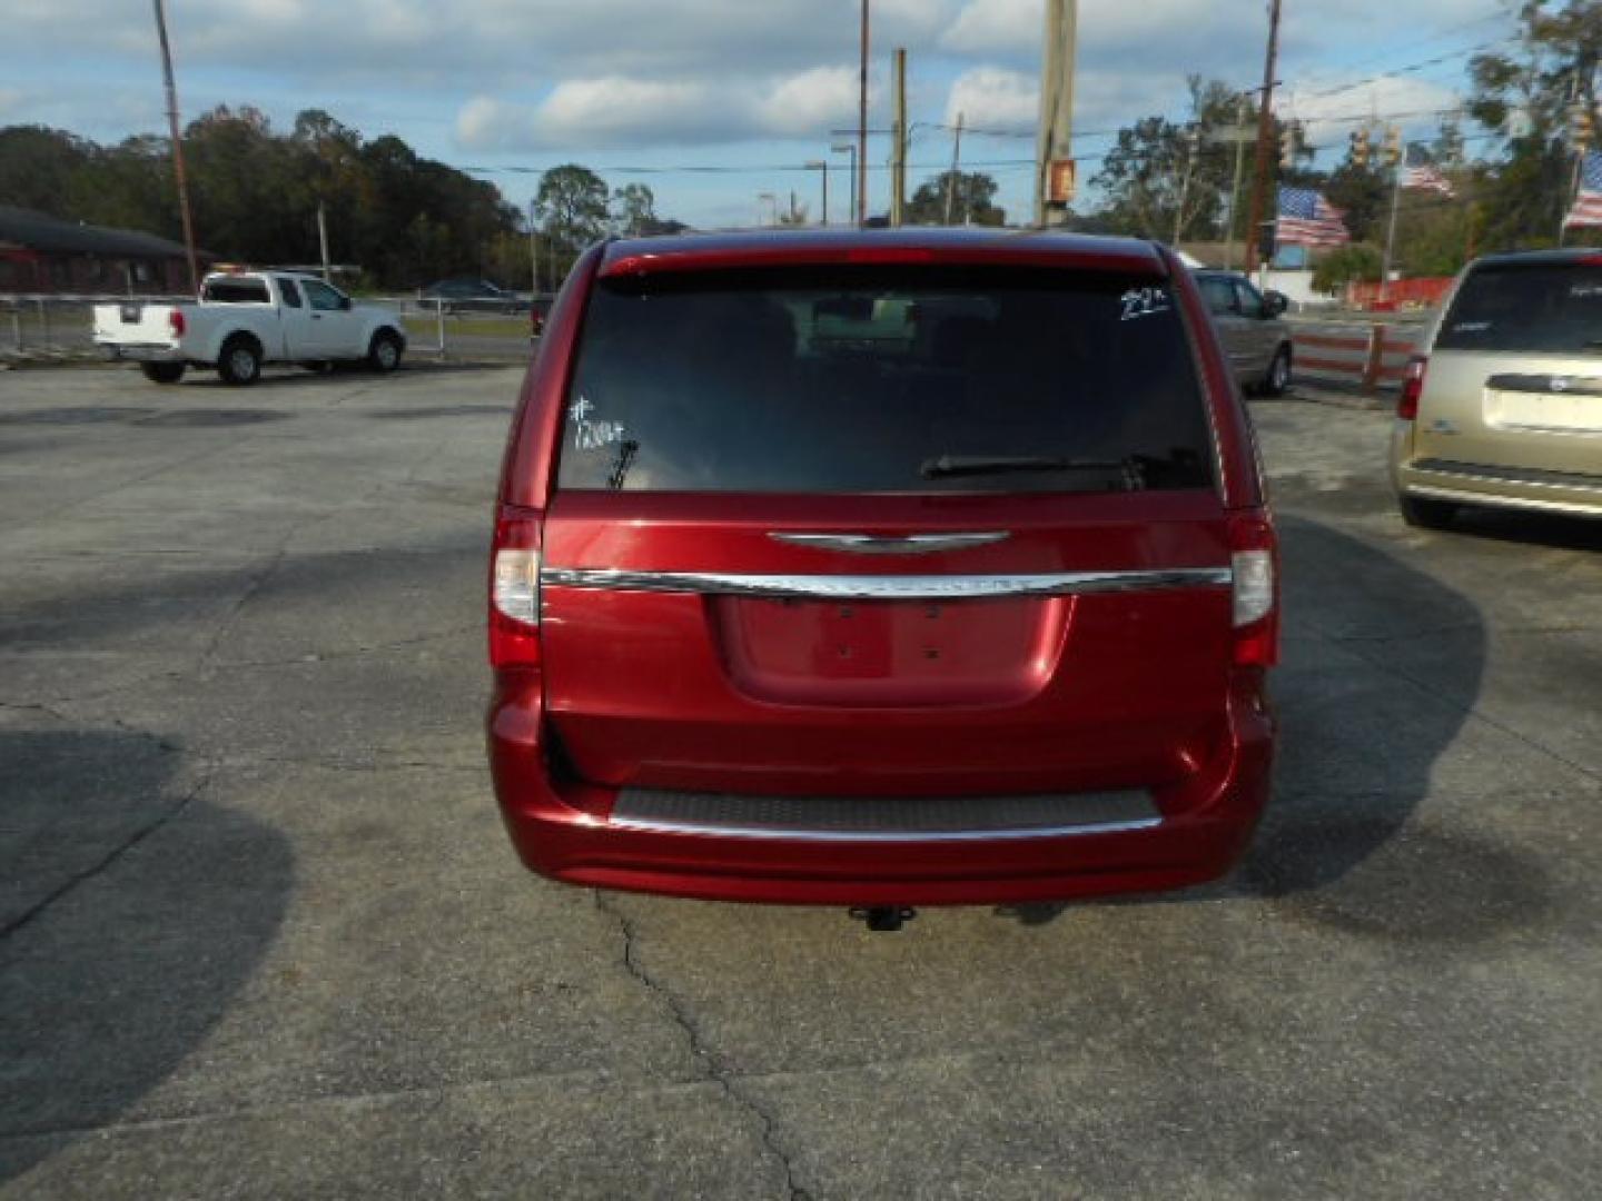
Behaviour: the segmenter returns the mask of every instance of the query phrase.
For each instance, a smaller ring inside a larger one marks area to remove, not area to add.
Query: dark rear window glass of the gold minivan
[[[1463,282],[1435,346],[1602,354],[1602,267],[1480,267]]]

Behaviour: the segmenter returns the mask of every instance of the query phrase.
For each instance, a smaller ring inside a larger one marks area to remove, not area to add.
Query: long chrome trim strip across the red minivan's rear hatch
[[[1234,572],[1229,567],[1174,567],[1056,575],[742,575],[545,567],[540,570],[540,583],[548,588],[622,592],[703,592],[823,600],[960,600],[992,596],[1088,596],[1171,588],[1229,588],[1234,583]]]

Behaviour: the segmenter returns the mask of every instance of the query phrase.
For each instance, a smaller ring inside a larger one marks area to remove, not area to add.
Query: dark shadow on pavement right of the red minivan
[[[1429,826],[1400,837],[1467,717],[1451,698],[1479,695],[1487,641],[1479,609],[1328,525],[1280,516],[1278,530],[1285,653],[1270,692],[1280,733],[1258,836],[1219,884],[1099,903],[1293,900],[1322,924],[1392,937],[1472,938],[1524,919],[1544,889],[1503,849]],[[1456,653],[1427,689],[1392,669],[1391,647],[1439,629],[1453,631]],[[1069,908],[998,913],[1041,926]]]

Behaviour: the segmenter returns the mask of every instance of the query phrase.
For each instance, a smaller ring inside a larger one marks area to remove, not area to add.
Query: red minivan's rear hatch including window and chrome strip
[[[602,275],[557,453],[546,714],[583,780],[1158,786],[1226,735],[1218,455],[1157,272]]]

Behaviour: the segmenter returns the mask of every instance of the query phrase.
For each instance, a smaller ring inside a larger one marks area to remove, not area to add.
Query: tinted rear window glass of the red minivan
[[[650,492],[1211,487],[1166,285],[833,267],[601,280],[557,485]]]

